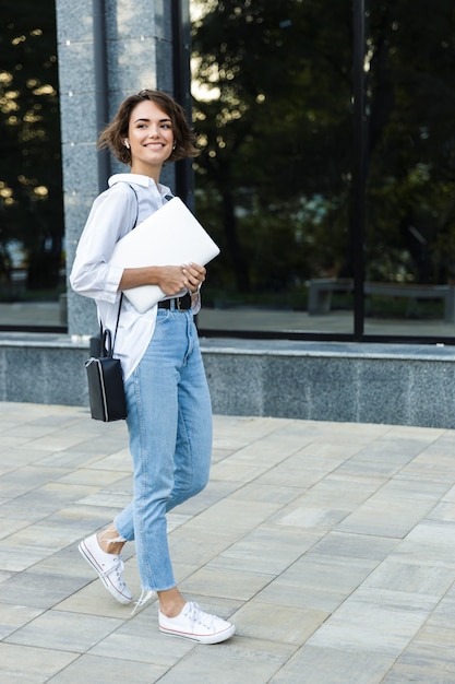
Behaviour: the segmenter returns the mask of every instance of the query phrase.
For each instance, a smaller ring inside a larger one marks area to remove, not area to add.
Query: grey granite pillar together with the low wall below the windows
[[[125,170],[96,150],[106,122],[100,93],[110,119],[132,92],[172,92],[171,5],[56,2],[68,272],[108,172]],[[171,167],[163,180],[173,186]],[[97,331],[95,306],[70,288],[68,322],[67,335],[0,334],[0,401],[88,408],[84,361]],[[202,340],[202,349],[218,414],[455,428],[451,347],[212,339]]]

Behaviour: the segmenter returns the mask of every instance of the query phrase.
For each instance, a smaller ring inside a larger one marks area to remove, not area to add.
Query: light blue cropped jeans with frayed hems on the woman
[[[116,529],[135,540],[142,589],[176,586],[166,514],[205,487],[212,405],[193,315],[158,309],[155,333],[125,382],[133,502]]]

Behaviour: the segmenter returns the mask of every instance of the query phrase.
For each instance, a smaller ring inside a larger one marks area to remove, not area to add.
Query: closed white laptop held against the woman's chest
[[[175,197],[140,223],[116,245],[110,264],[124,269],[144,266],[205,266],[219,248],[185,204]],[[167,295],[158,285],[124,290],[124,295],[144,314]]]

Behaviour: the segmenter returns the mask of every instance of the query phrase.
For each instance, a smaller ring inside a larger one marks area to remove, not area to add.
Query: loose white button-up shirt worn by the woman
[[[169,188],[157,186],[148,176],[116,174],[109,178],[108,190],[93,203],[77,245],[70,283],[74,292],[95,299],[98,319],[111,331],[112,338],[123,273],[121,267],[109,266],[113,247],[136,224],[163,207],[166,198],[171,197]],[[182,291],[177,296],[184,293]],[[197,314],[200,297],[194,299],[192,308]],[[156,311],[154,306],[145,314],[139,314],[127,297],[122,299],[115,356],[121,359],[124,379],[133,373],[152,340]]]

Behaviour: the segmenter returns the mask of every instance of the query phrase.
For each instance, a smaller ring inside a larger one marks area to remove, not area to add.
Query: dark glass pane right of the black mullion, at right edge
[[[453,335],[455,13],[371,3],[366,333]]]

